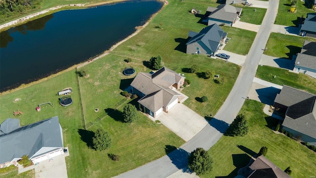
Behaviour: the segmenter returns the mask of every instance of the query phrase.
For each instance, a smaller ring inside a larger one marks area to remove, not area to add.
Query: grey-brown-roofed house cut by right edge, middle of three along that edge
[[[301,53],[295,59],[293,70],[316,78],[316,42],[304,42]]]

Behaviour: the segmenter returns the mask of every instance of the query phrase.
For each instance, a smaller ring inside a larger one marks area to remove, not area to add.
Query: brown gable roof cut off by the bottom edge
[[[248,178],[291,178],[265,156],[259,156],[249,168],[253,170]]]

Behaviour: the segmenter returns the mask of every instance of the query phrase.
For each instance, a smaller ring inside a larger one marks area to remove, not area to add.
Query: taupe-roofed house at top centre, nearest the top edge
[[[233,26],[240,19],[241,11],[241,7],[234,7],[229,4],[207,7],[203,22],[207,22],[207,25],[216,23],[218,25]]]

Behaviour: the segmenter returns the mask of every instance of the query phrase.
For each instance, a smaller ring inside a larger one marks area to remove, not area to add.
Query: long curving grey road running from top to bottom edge
[[[240,70],[237,81],[209,125],[206,125],[201,132],[179,149],[144,166],[118,175],[118,178],[166,178],[187,165],[187,155],[191,151],[197,147],[208,150],[221,138],[229,124],[236,118],[251,88],[263,49],[266,47],[276,19],[278,3],[279,0],[269,1],[269,8]]]

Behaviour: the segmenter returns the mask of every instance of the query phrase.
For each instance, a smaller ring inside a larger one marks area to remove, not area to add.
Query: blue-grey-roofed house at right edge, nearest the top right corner
[[[306,33],[305,36],[316,38],[316,13],[308,13],[304,20],[300,35]]]

